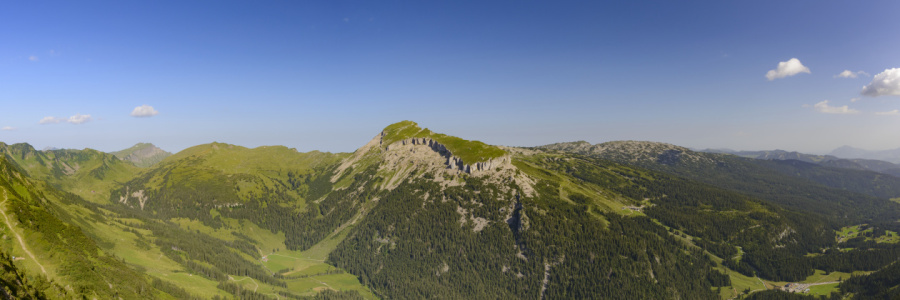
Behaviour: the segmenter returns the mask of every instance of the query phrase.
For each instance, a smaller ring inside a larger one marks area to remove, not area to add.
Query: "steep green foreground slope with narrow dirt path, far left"
[[[0,248],[15,257],[16,268],[38,282],[34,289],[50,298],[171,297],[159,289],[168,286],[153,283],[102,251],[74,224],[88,222],[85,217],[103,220],[97,214],[81,215],[67,209],[72,201],[87,203],[77,195],[29,179],[4,157],[0,157],[0,193],[4,232]]]

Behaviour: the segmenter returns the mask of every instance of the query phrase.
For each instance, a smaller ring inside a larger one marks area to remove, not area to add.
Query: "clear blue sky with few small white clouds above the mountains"
[[[4,1],[0,141],[879,150],[897,68],[900,1]]]

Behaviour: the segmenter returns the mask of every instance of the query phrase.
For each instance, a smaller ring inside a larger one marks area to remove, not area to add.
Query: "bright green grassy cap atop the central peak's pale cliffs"
[[[382,143],[390,145],[396,141],[409,138],[431,138],[447,147],[450,153],[467,164],[483,162],[506,155],[506,151],[503,151],[503,149],[479,141],[469,141],[455,136],[434,133],[428,128],[420,128],[418,124],[412,121],[402,121],[384,128]]]

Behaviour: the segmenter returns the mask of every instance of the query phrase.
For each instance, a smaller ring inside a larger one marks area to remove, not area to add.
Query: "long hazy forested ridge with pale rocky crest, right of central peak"
[[[886,199],[900,197],[900,178],[893,176],[817,166],[796,160],[759,160],[696,152],[656,142],[621,141],[588,145],[572,142],[537,148],[573,152],[662,171],[832,218],[863,222],[871,221],[871,218],[887,220],[897,215],[874,209]],[[882,216],[876,217],[876,214]]]

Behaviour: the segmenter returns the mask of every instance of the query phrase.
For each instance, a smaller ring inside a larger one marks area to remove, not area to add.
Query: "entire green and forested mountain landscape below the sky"
[[[892,176],[653,142],[494,146],[411,121],[373,134],[353,153],[211,143],[142,168],[0,143],[0,285],[98,299],[732,299],[855,271],[871,274],[830,289],[900,285]]]

